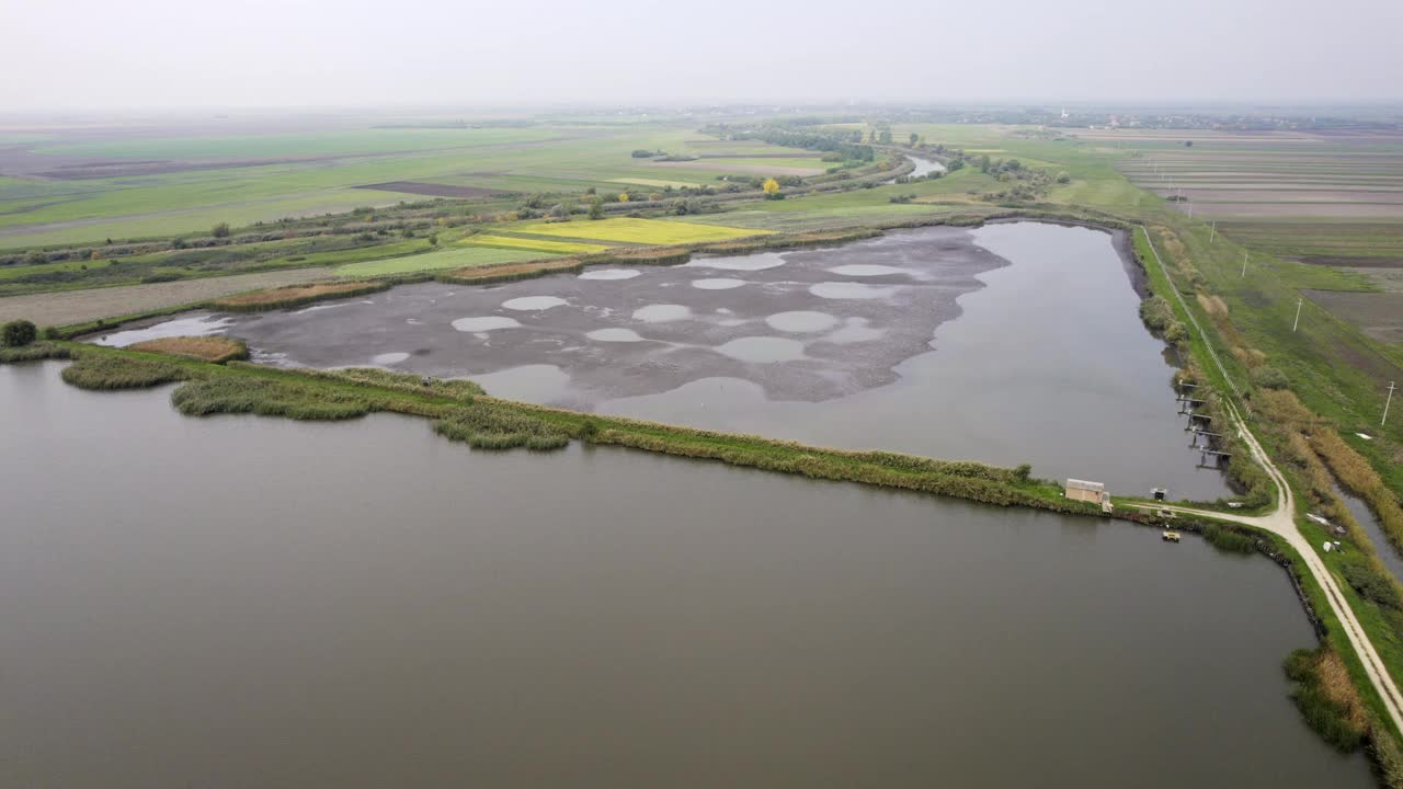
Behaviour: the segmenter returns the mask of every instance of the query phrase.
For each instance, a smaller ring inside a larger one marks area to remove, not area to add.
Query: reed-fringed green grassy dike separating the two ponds
[[[185,382],[173,403],[187,414],[258,413],[290,418],[354,418],[375,411],[436,420],[448,438],[477,448],[553,449],[565,439],[627,446],[682,458],[953,496],[985,504],[1100,515],[1100,508],[1068,501],[1061,487],[1006,469],[972,462],[933,460],[895,452],[853,452],[627,420],[499,400],[467,382],[422,386],[418,376],[383,371],[289,371],[246,362],[226,365],[139,351],[51,341],[43,351],[74,358],[65,380],[87,389],[128,389]],[[504,437],[519,438],[506,441]]]

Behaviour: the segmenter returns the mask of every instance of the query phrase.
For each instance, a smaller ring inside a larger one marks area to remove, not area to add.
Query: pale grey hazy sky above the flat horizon
[[[0,0],[0,111],[1403,98],[1403,0]]]

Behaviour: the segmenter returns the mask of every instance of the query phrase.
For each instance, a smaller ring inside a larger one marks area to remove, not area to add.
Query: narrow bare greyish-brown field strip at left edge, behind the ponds
[[[15,319],[39,326],[67,326],[100,317],[118,317],[163,307],[192,305],[258,288],[278,288],[331,277],[330,268],[295,268],[231,277],[203,277],[177,282],[121,285],[59,293],[32,293],[0,298],[0,323]]]

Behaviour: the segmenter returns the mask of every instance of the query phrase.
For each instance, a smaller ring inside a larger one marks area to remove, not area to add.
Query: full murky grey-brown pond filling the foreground
[[[0,366],[0,783],[1371,785],[1150,529]]]

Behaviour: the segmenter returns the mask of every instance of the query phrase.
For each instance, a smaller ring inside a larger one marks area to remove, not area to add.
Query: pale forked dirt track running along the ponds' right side
[[[1188,310],[1188,305],[1184,303],[1183,295],[1180,295],[1179,288],[1174,285],[1173,279],[1169,279],[1169,271],[1164,268],[1164,263],[1159,257],[1159,250],[1155,248],[1155,241],[1149,237],[1149,230],[1141,226],[1141,232],[1145,233],[1145,240],[1149,243],[1149,248],[1155,253],[1155,263],[1159,264],[1160,271],[1164,272],[1164,278],[1169,281],[1169,286],[1174,291],[1174,296],[1179,299],[1180,305],[1184,306],[1184,314],[1188,316],[1190,323],[1194,324],[1194,331],[1197,331],[1202,338],[1204,344],[1208,347],[1209,355],[1214,358],[1214,364],[1222,373],[1223,380],[1232,387],[1235,394],[1237,393],[1236,385],[1233,385],[1232,378],[1228,375],[1228,369],[1223,368],[1222,361],[1218,354],[1214,352],[1212,345],[1208,343],[1208,336],[1204,334],[1202,327],[1198,326],[1198,320],[1194,319],[1194,313]],[[1228,414],[1232,417],[1232,423],[1237,430],[1237,435],[1247,445],[1251,456],[1267,475],[1271,476],[1271,482],[1277,486],[1277,508],[1267,515],[1233,515],[1226,512],[1215,512],[1209,510],[1193,510],[1190,507],[1174,507],[1174,505],[1160,505],[1157,508],[1172,510],[1174,512],[1183,512],[1187,515],[1200,515],[1205,518],[1218,518],[1221,521],[1232,521],[1235,524],[1243,524],[1247,526],[1256,526],[1258,529],[1268,531],[1274,535],[1280,535],[1287,541],[1301,555],[1305,560],[1306,569],[1315,576],[1316,583],[1324,590],[1324,597],[1330,602],[1330,609],[1334,612],[1336,618],[1340,619],[1340,625],[1344,628],[1344,635],[1350,639],[1350,644],[1354,647],[1355,654],[1360,656],[1360,663],[1364,664],[1364,671],[1368,674],[1369,681],[1374,682],[1374,688],[1383,698],[1383,706],[1389,712],[1389,717],[1393,720],[1393,726],[1403,731],[1403,695],[1399,694],[1397,685],[1393,682],[1393,677],[1389,675],[1383,665],[1383,660],[1379,653],[1375,651],[1374,643],[1369,636],[1364,632],[1364,626],[1360,625],[1360,619],[1354,615],[1350,608],[1348,601],[1340,592],[1338,584],[1334,581],[1334,576],[1320,560],[1320,555],[1316,553],[1315,546],[1306,542],[1306,538],[1296,528],[1295,512],[1296,501],[1295,496],[1291,493],[1291,486],[1287,484],[1287,477],[1281,475],[1277,465],[1271,462],[1266,449],[1257,442],[1257,437],[1247,430],[1247,424],[1242,421],[1242,416],[1233,403],[1228,403]]]

